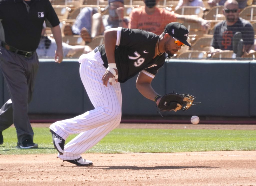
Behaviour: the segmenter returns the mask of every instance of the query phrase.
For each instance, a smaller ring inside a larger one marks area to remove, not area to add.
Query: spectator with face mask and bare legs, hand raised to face
[[[109,28],[128,27],[129,18],[124,17],[124,0],[109,0],[109,14],[93,15],[92,37],[103,35]]]

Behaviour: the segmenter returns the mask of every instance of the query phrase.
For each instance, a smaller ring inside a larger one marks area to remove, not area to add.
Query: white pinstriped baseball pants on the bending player
[[[62,160],[77,159],[97,144],[121,121],[122,94],[120,83],[104,86],[102,76],[106,71],[100,52],[83,54],[79,60],[80,77],[94,106],[94,110],[71,119],[57,121],[50,126],[64,140],[70,134],[78,134],[65,145]]]

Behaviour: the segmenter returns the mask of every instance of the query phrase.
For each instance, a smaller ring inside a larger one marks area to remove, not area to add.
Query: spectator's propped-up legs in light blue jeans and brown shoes
[[[97,8],[84,7],[76,17],[76,21],[72,27],[69,23],[64,25],[64,35],[81,35],[86,44],[90,43],[92,40],[92,16],[97,12]]]

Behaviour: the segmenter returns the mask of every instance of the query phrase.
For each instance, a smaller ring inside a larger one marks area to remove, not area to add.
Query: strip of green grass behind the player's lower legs
[[[33,128],[38,149],[16,148],[15,128],[3,131],[0,154],[57,154],[49,128]],[[76,135],[71,135],[67,142]],[[66,143],[67,143],[66,142]],[[256,130],[114,129],[87,153],[256,150]]]

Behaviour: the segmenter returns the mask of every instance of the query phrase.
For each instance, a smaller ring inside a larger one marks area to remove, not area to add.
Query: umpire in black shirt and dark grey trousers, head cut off
[[[63,58],[59,19],[49,0],[0,0],[0,67],[10,94],[0,110],[2,131],[13,123],[19,148],[37,148],[28,118],[39,61],[36,53],[44,21],[57,43],[55,62]]]

